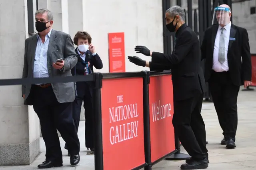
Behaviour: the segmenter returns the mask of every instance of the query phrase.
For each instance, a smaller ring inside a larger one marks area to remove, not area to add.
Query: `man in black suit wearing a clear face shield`
[[[230,16],[228,5],[215,8],[213,25],[205,31],[201,52],[202,59],[206,59],[205,80],[223,130],[221,144],[235,148],[239,86],[250,86],[252,64],[248,33],[231,24]]]

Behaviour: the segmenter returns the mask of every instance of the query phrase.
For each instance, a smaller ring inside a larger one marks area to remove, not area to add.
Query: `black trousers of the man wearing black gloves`
[[[188,154],[196,160],[208,157],[205,125],[201,116],[203,97],[204,94],[198,92],[192,98],[174,100],[174,131]]]

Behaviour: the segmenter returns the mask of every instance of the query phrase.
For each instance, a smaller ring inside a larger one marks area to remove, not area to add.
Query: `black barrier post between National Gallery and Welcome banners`
[[[149,72],[143,71],[145,76],[143,77],[143,123],[144,123],[144,150],[145,161],[148,164],[144,170],[151,170],[151,148],[150,148],[150,118],[149,118]]]

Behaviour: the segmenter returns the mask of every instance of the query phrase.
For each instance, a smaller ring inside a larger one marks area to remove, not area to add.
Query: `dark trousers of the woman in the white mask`
[[[84,102],[84,115],[85,115],[85,147],[94,148],[94,124],[93,124],[93,98],[92,88],[86,88],[86,92],[83,97],[78,97],[73,102],[73,119],[78,130],[80,122],[80,114],[82,102]],[[65,145],[67,149],[68,146]]]

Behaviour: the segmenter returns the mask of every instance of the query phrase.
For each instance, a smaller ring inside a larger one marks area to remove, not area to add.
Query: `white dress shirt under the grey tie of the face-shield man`
[[[215,43],[214,43],[214,50],[213,50],[213,62],[212,62],[212,70],[216,72],[226,72],[229,70],[228,68],[228,42],[229,42],[229,36],[230,36],[230,29],[231,29],[231,22],[224,26],[223,34],[225,36],[225,62],[221,64],[218,60],[219,57],[219,45],[220,45],[220,33],[222,27],[219,26]]]

